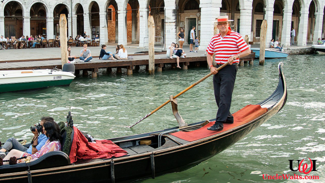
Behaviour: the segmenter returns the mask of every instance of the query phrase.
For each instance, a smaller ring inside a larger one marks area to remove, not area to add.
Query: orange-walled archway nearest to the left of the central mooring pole
[[[129,0],[126,6],[127,42],[139,43],[139,2]]]

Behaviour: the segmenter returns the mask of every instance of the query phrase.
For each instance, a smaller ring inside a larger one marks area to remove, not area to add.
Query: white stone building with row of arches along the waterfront
[[[86,31],[99,34],[100,43],[138,44],[147,42],[147,17],[155,21],[156,41],[177,41],[180,27],[206,46],[213,34],[213,21],[226,14],[234,21],[231,28],[249,40],[259,42],[260,25],[267,20],[267,42],[279,39],[290,44],[290,29],[296,31],[298,45],[324,37],[325,0],[0,0],[0,34],[4,36],[58,35],[59,15],[67,18],[67,35]]]

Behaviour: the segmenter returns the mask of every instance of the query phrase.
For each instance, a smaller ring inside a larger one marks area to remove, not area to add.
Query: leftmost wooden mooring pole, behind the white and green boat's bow
[[[60,46],[61,46],[61,63],[62,68],[64,63],[67,63],[67,35],[66,35],[66,17],[65,14],[60,14],[59,20],[59,29],[60,29]]]

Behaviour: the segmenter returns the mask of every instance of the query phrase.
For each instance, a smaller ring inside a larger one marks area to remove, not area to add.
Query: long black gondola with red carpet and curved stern
[[[214,119],[143,134],[110,138],[127,151],[109,159],[82,159],[70,163],[74,140],[64,135],[69,146],[65,152],[52,151],[30,163],[0,166],[1,182],[130,182],[182,171],[209,159],[243,138],[277,113],[285,104],[287,92],[282,63],[278,64],[279,81],[275,91],[256,105],[247,105],[233,113],[234,123],[221,131],[206,130]],[[67,127],[64,127],[67,128]],[[67,130],[66,130],[67,131]],[[202,135],[203,134],[203,135]],[[144,142],[144,143],[142,143]]]

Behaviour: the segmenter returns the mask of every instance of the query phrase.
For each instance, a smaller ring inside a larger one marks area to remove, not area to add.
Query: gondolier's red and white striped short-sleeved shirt
[[[215,62],[223,64],[228,61],[230,56],[239,54],[239,52],[245,51],[248,48],[248,45],[239,33],[229,30],[223,38],[220,33],[214,35],[206,51],[208,54],[215,52]],[[239,63],[239,58],[235,59],[233,63]]]

